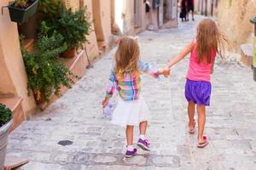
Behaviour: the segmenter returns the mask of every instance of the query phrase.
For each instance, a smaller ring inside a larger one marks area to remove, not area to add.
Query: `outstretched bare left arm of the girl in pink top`
[[[180,54],[177,54],[175,57],[173,57],[169,63],[166,65],[166,69],[169,70],[172,65],[177,64],[181,59],[183,59],[186,55],[192,52],[194,48],[194,43],[190,42],[187,47],[183,48],[183,50],[180,52]]]

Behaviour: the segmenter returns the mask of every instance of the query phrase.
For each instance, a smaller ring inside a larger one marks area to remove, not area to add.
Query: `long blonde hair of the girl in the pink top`
[[[198,62],[212,62],[212,51],[216,51],[224,58],[225,42],[228,42],[224,34],[218,29],[216,23],[211,19],[203,19],[197,26],[197,59]]]

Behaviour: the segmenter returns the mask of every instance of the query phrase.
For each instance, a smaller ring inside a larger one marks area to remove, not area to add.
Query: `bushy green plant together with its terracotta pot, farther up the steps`
[[[65,58],[73,58],[77,48],[83,48],[87,42],[86,36],[90,34],[91,22],[87,8],[80,8],[73,12],[64,5],[59,6],[58,14],[46,20],[51,32],[57,31],[67,42],[67,50],[61,54]]]

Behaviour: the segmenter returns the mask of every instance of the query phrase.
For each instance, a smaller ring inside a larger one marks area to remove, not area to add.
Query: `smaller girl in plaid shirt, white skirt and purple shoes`
[[[107,94],[102,106],[108,105],[115,89],[119,92],[118,105],[113,111],[112,123],[126,127],[127,150],[126,157],[135,156],[137,148],[133,145],[133,127],[139,126],[140,138],[137,145],[143,150],[150,150],[145,138],[148,120],[150,119],[148,105],[141,93],[141,71],[156,78],[159,75],[168,76],[169,71],[156,71],[150,65],[139,59],[140,49],[133,37],[123,37],[115,54],[115,65],[108,81]]]

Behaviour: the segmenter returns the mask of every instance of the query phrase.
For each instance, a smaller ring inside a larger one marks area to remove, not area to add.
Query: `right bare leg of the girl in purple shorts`
[[[205,139],[203,139],[203,133],[206,124],[206,106],[205,105],[197,105],[198,112],[198,142],[203,143]]]

